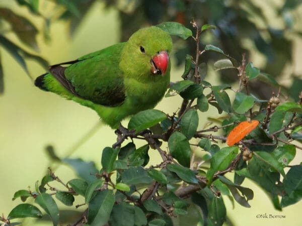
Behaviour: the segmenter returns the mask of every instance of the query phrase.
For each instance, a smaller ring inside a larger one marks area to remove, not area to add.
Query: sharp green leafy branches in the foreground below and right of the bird
[[[93,162],[60,158],[48,148],[53,161],[73,168],[78,177],[63,182],[50,169],[36,182],[34,191],[15,193],[13,199],[35,203],[17,205],[7,218],[0,218],[2,225],[17,225],[11,222],[15,218],[40,218],[40,209],[58,225],[64,219],[57,201],[66,206],[78,203],[77,208],[86,206],[78,220],[68,222],[72,225],[173,225],[175,216],[189,216],[190,225],[222,225],[227,217],[224,198],[250,207],[254,192],[242,186],[246,178],[269,194],[276,209],[302,198],[302,166],[290,165],[296,149],[302,149],[292,144],[301,142],[302,137],[302,92],[297,102],[282,102],[274,93],[268,100],[258,99],[249,89],[250,81],[262,76],[268,85],[275,85],[274,78],[247,62],[244,55],[240,62],[216,46],[200,48],[203,32],[215,27],[199,28],[195,21],[192,26],[195,36],[178,23],[159,25],[171,35],[195,41],[196,57],[187,55],[183,80],[171,85],[166,94],[167,98],[182,98],[182,106],[173,115],[155,109],[134,115],[127,128],[121,126],[116,131],[116,143],[103,149],[101,169]],[[215,70],[232,68],[237,72],[237,90],[205,80],[204,62],[199,61],[207,52],[223,57],[213,64]],[[232,100],[231,91],[235,92]],[[223,117],[208,118],[202,127],[200,116],[209,106]],[[239,122],[250,120],[260,122],[257,128],[235,145],[223,147],[230,131]],[[127,138],[132,141],[125,144]],[[144,140],[145,145],[136,147],[135,140]],[[161,161],[149,165],[149,153],[154,150]],[[235,172],[233,178],[230,172]]]

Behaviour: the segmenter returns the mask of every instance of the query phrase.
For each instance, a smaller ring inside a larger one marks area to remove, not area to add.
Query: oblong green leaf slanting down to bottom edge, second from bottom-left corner
[[[35,198],[35,203],[45,210],[45,212],[50,216],[53,226],[56,226],[59,222],[59,209],[51,195],[47,193],[39,194]]]

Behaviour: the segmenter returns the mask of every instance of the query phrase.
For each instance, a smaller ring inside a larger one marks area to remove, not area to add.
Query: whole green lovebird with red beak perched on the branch
[[[142,28],[127,42],[50,66],[35,85],[94,109],[115,129],[162,99],[170,82],[171,49],[167,32]]]

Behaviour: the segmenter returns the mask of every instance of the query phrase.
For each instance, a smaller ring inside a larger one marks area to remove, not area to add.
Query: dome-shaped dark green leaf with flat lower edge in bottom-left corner
[[[42,212],[34,205],[22,203],[12,209],[12,211],[9,213],[8,219],[24,217],[41,218]]]

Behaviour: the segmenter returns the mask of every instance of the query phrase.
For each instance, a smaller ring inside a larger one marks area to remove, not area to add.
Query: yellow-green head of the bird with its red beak
[[[170,74],[170,35],[158,27],[139,29],[127,41],[121,68],[135,76],[165,76]]]

